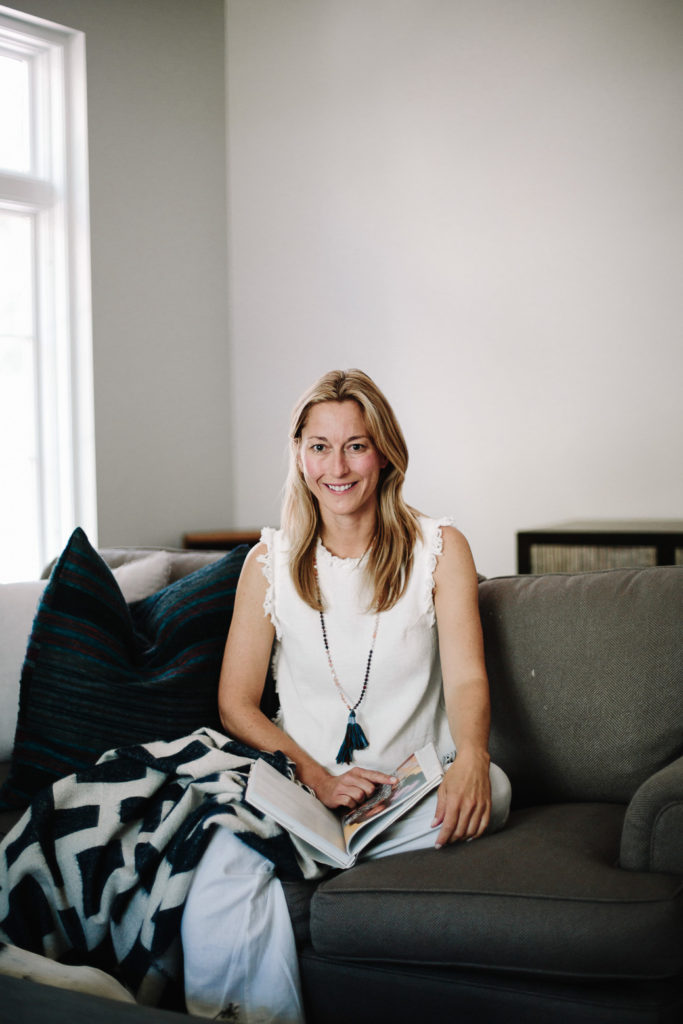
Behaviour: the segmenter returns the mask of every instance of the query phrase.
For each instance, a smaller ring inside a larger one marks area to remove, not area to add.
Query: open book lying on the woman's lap
[[[362,804],[340,815],[308,790],[259,758],[252,766],[247,800],[296,836],[306,852],[334,867],[350,867],[368,844],[438,785],[443,775],[433,743],[412,754]]]

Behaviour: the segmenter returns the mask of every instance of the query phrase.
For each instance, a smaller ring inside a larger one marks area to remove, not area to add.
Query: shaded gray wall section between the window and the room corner
[[[14,6],[86,34],[99,543],[179,544],[231,509],[223,2]]]

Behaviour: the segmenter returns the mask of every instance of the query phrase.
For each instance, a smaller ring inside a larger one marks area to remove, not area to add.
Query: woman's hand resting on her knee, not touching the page
[[[436,849],[459,840],[477,839],[490,817],[490,760],[485,751],[459,752],[441,782],[432,827],[440,825]]]

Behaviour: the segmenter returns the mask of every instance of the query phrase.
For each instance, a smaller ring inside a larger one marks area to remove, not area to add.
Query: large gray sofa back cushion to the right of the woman
[[[488,580],[479,602],[515,805],[626,803],[683,754],[683,566]]]

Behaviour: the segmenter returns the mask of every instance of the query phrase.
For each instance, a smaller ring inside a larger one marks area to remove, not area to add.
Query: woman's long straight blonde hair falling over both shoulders
[[[408,446],[391,406],[361,370],[333,370],[298,400],[290,427],[290,467],[283,500],[282,526],[291,547],[290,571],[297,592],[311,608],[324,610],[315,582],[315,545],[321,510],[301,470],[301,433],[312,406],[324,401],[358,403],[375,447],[387,459],[378,484],[377,528],[368,551],[366,572],[372,584],[371,608],[385,611],[401,597],[421,537],[418,514],[402,498]]]

